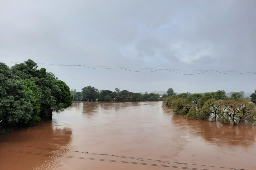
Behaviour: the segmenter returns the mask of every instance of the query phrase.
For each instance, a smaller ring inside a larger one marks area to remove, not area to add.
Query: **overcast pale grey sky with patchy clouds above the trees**
[[[0,0],[0,62],[256,72],[255,9],[254,0]],[[78,91],[256,89],[256,74],[39,67]]]

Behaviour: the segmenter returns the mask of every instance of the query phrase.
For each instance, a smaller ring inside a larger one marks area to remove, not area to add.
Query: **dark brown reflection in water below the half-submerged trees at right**
[[[172,123],[179,129],[179,132],[202,137],[204,140],[218,146],[228,144],[229,146],[241,145],[249,147],[255,142],[255,126],[229,126],[220,122],[187,120],[184,119],[184,116],[173,115],[172,110],[165,107],[163,107],[163,112],[171,118]]]

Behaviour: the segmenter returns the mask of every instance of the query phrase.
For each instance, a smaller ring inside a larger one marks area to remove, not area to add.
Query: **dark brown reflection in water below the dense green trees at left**
[[[11,146],[0,145],[0,149],[52,154],[52,150],[36,149],[21,145],[66,149],[71,140],[72,130],[70,128],[59,127],[52,123],[52,121],[46,121],[30,128],[1,135],[0,143],[8,143]],[[33,167],[36,168],[37,165],[41,166],[44,162],[49,164],[54,159],[56,157],[0,151],[0,169],[32,169]]]

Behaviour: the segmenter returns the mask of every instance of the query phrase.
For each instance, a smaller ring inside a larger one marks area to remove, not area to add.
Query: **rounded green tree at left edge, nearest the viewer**
[[[0,63],[0,132],[16,124],[27,124],[34,115],[32,92],[14,76],[6,64]]]

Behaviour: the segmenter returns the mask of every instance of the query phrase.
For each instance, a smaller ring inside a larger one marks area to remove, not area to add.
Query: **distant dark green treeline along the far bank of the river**
[[[71,89],[71,94],[74,96],[73,101],[158,101],[160,95],[157,93],[133,93],[128,90],[120,91],[115,88],[115,91],[111,90],[98,90],[92,86],[82,88],[81,92],[76,89]],[[169,88],[163,97],[175,95],[172,88]]]

